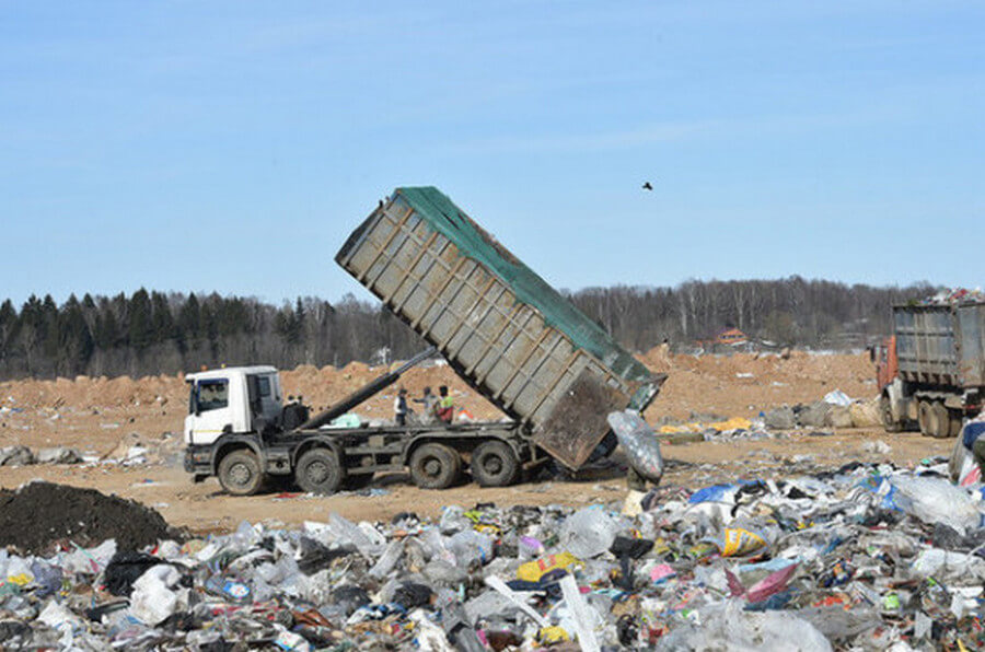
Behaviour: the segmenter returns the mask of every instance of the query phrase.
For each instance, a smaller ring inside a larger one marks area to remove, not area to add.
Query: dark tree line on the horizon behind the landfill
[[[676,348],[738,327],[776,346],[857,348],[890,329],[890,306],[935,288],[846,286],[791,277],[691,280],[676,288],[564,292],[630,350]],[[282,305],[255,298],[148,292],[32,295],[0,304],[0,379],[174,374],[201,365],[344,365],[407,358],[426,345],[378,302],[305,296]]]

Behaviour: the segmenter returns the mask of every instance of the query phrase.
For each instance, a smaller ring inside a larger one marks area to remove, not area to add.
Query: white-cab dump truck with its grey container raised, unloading
[[[512,484],[549,462],[577,470],[615,447],[606,416],[642,411],[667,377],[651,373],[437,188],[397,188],[335,259],[432,349],[313,418],[303,406],[277,407],[273,368],[189,374],[185,468],[197,480],[218,476],[227,491],[245,494],[281,476],[331,493],[405,469],[415,484],[434,489],[466,469],[482,486]],[[327,428],[434,352],[508,419]],[[202,396],[216,394],[208,385],[217,379],[230,383],[225,404],[216,403],[224,407],[215,408],[228,410],[223,418],[204,409],[212,405]]]

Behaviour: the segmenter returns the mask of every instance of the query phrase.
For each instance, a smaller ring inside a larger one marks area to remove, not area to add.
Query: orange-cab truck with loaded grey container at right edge
[[[893,306],[872,349],[887,432],[957,436],[985,398],[985,303]]]

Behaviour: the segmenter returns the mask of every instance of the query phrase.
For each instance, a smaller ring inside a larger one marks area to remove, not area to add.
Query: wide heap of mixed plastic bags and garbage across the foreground
[[[437,521],[243,523],[184,543],[72,535],[0,552],[0,645],[974,649],[982,494],[946,470],[853,463],[661,487],[633,517],[617,503],[478,504]]]

